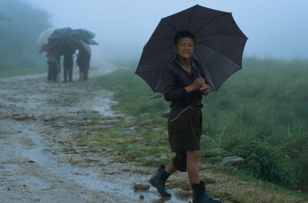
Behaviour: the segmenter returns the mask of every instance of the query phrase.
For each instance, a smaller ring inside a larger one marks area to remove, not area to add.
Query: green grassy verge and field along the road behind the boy
[[[218,93],[207,97],[200,164],[215,163],[228,155],[241,155],[247,163],[242,169],[216,165],[200,171],[201,179],[216,188],[209,188],[213,196],[224,202],[308,201],[300,192],[308,177],[308,112],[303,111],[308,104],[307,64],[251,58]],[[131,119],[104,131],[88,131],[80,136],[79,144],[112,148],[122,154],[115,161],[135,161],[153,172],[174,155],[169,150],[167,119],[161,116],[168,103],[159,94],[151,97],[151,88],[134,74],[136,65],[136,61],[127,63],[128,69],[95,82],[114,92],[119,103],[113,110]],[[227,151],[211,151],[218,147]],[[167,187],[182,188],[179,196],[191,195],[187,178],[171,177]]]

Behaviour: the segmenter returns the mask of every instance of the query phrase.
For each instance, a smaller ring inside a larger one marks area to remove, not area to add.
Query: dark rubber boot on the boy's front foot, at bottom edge
[[[192,194],[194,195],[192,203],[221,203],[220,199],[208,195],[205,191],[205,184],[200,181],[200,184],[191,183]]]

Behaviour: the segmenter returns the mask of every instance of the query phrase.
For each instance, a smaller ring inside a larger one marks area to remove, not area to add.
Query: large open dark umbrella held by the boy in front
[[[153,92],[163,92],[161,75],[174,60],[174,35],[188,30],[196,38],[194,59],[201,62],[211,91],[242,68],[247,37],[235,23],[232,14],[199,5],[161,19],[143,52],[136,69]]]

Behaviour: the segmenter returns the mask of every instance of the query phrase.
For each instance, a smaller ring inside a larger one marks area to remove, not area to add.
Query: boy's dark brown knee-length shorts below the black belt
[[[169,144],[172,152],[176,152],[172,162],[180,171],[186,171],[185,150],[200,150],[200,138],[202,133],[202,110],[185,110],[176,120],[176,116],[184,108],[172,107],[168,119]]]

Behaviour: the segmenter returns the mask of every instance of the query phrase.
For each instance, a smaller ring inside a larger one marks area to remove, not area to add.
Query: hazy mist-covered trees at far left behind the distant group
[[[46,64],[46,58],[39,54],[40,46],[36,40],[52,26],[50,17],[46,10],[26,1],[0,1],[0,76],[3,77],[3,71],[27,71]]]

